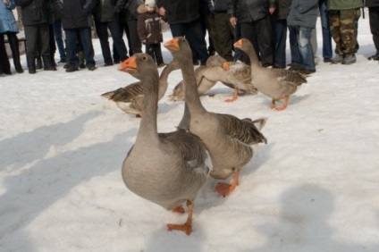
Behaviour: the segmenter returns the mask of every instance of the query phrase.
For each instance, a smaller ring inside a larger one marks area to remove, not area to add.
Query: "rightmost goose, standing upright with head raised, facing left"
[[[301,84],[307,83],[304,75],[299,72],[261,66],[254,47],[246,38],[238,40],[234,43],[234,47],[248,54],[252,82],[259,92],[272,98],[271,108],[276,111],[284,110],[290,96],[299,89]],[[276,102],[282,102],[282,106],[277,107]]]

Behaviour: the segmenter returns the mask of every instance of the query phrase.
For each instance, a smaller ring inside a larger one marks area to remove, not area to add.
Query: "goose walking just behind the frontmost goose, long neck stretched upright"
[[[211,156],[213,169],[210,175],[225,180],[233,174],[231,184],[218,183],[215,191],[226,197],[239,184],[240,171],[257,153],[258,143],[267,143],[260,132],[266,118],[251,120],[224,113],[210,113],[201,104],[197,92],[195,72],[191,62],[189,44],[185,38],[173,38],[164,43],[180,63],[185,85],[185,106],[180,126],[189,129],[204,141]]]

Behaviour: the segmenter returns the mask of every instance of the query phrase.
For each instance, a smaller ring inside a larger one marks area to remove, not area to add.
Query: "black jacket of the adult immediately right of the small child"
[[[156,5],[164,7],[170,24],[187,23],[200,17],[198,0],[157,0]]]

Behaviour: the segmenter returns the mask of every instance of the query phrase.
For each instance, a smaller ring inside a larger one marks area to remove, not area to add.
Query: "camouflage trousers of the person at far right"
[[[337,55],[348,55],[357,52],[359,17],[359,8],[329,11],[329,24]]]

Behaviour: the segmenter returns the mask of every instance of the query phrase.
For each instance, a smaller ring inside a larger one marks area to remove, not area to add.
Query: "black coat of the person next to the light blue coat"
[[[47,0],[16,0],[21,6],[22,23],[24,25],[35,25],[48,22]]]

